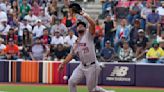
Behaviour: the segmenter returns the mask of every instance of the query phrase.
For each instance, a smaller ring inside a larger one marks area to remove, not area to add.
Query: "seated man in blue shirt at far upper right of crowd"
[[[152,9],[152,13],[147,16],[147,25],[146,25],[146,32],[147,35],[160,34],[160,16],[157,12],[155,12],[155,8]],[[155,31],[154,31],[155,30]]]

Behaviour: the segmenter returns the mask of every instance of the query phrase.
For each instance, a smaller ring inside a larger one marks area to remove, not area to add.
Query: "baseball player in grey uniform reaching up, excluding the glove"
[[[78,42],[71,49],[64,62],[58,67],[59,72],[63,67],[72,60],[74,55],[77,55],[81,61],[78,67],[73,71],[72,76],[68,80],[70,92],[77,92],[76,85],[85,77],[86,85],[89,92],[114,92],[107,91],[103,88],[97,87],[98,76],[101,68],[97,61],[94,45],[95,22],[84,11],[80,14],[89,22],[89,28],[84,22],[77,23],[77,32],[79,35]]]

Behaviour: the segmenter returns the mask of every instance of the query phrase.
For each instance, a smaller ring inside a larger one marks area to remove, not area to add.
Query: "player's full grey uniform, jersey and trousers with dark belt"
[[[70,52],[73,55],[78,55],[81,61],[68,81],[70,92],[77,92],[76,85],[83,78],[86,78],[86,85],[89,92],[105,92],[104,89],[97,88],[101,68],[96,58],[93,39],[91,33],[86,31],[82,38],[79,39],[77,46]]]

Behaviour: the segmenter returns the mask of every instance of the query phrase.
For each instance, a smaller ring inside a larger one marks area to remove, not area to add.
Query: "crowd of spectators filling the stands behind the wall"
[[[99,61],[164,62],[164,2],[100,1],[94,35]],[[76,24],[85,20],[69,13],[69,0],[63,2],[0,0],[0,58],[64,59],[78,40]]]

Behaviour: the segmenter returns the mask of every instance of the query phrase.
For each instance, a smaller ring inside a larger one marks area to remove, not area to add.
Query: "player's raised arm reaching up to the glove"
[[[95,21],[85,12],[81,12],[81,15],[89,22],[89,31],[93,35],[95,33]]]

